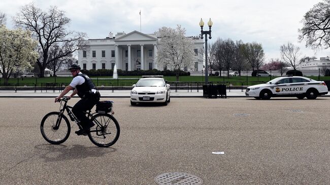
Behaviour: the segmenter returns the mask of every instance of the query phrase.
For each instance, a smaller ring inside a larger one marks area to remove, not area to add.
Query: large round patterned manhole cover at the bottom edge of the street
[[[170,172],[156,176],[155,182],[159,185],[200,185],[203,183],[203,180],[188,173]]]

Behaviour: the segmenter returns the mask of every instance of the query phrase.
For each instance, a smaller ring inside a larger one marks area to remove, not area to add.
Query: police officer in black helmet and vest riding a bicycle
[[[76,134],[86,135],[89,129],[94,126],[94,123],[86,117],[84,112],[93,108],[96,102],[100,100],[100,93],[97,91],[91,79],[80,72],[79,65],[72,64],[69,70],[74,78],[70,85],[65,87],[62,93],[55,98],[55,102],[59,101],[69,91],[75,89],[69,98],[72,98],[76,94],[81,98],[72,108],[73,114],[78,118],[82,127],[82,129],[76,131]]]

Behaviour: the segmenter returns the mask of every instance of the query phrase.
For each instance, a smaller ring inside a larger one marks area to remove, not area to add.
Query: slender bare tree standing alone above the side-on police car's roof
[[[287,45],[282,45],[280,50],[283,61],[288,63],[293,67],[293,70],[295,70],[300,61],[300,48],[298,46],[294,46],[292,43],[288,43]]]

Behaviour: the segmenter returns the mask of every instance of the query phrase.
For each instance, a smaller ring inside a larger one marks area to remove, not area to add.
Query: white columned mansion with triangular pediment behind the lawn
[[[199,53],[204,41],[199,36],[191,37],[194,42],[195,61],[189,70],[203,70],[203,55]],[[78,51],[78,64],[83,69],[117,69],[122,70],[163,70],[157,66],[155,56],[160,38],[157,32],[145,34],[139,31],[119,32],[115,36],[109,33],[105,39],[87,40],[88,49]]]

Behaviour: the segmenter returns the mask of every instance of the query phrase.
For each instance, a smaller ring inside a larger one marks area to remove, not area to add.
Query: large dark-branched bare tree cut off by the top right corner
[[[302,20],[303,28],[299,29],[298,39],[306,40],[306,47],[330,47],[330,0],[324,0],[309,10]]]

